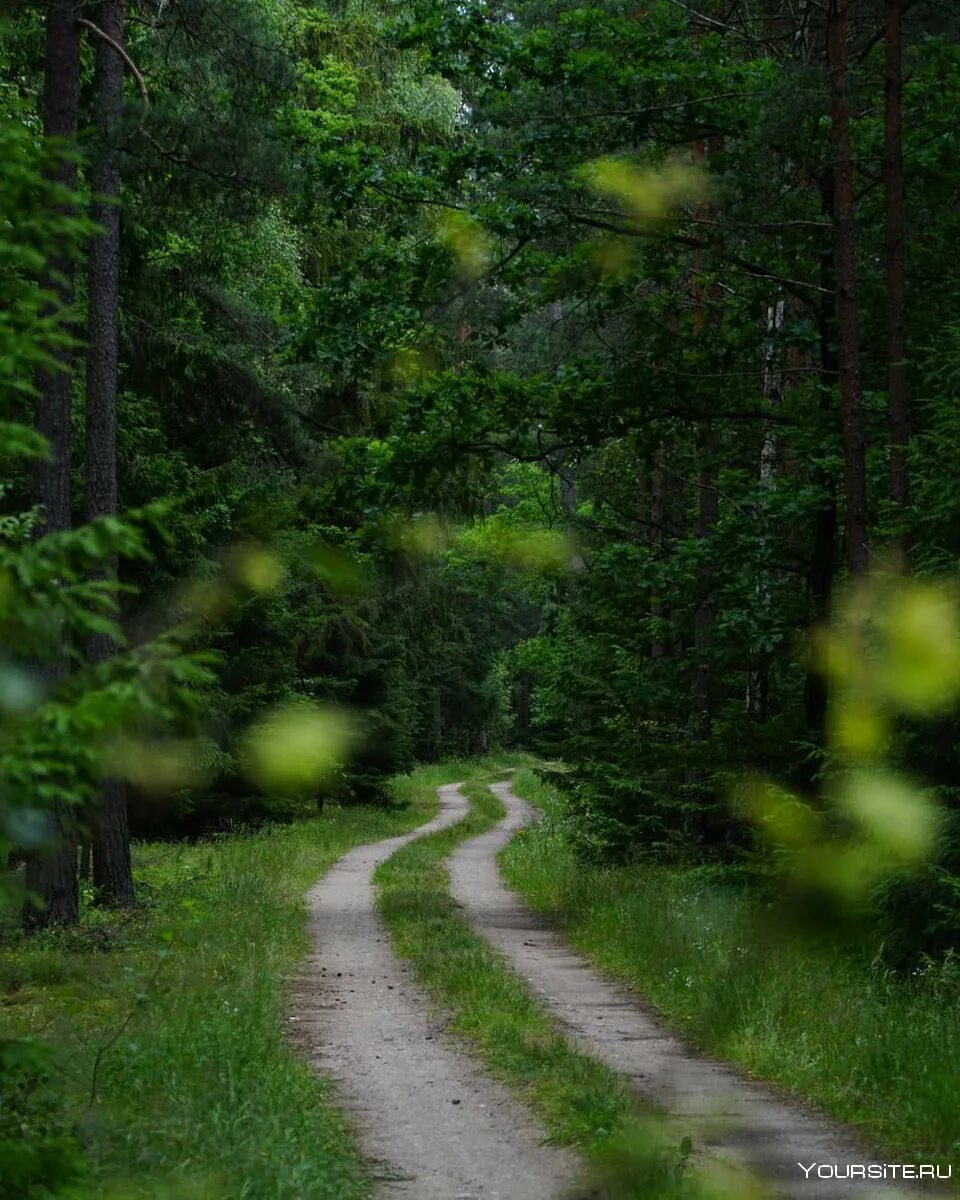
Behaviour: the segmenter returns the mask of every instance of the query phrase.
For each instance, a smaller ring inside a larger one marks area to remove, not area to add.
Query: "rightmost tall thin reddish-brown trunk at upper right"
[[[884,74],[884,184],[887,196],[887,341],[890,422],[890,499],[902,509],[910,496],[907,446],[910,392],[906,371],[906,268],[904,236],[904,38],[902,0],[887,0]]]

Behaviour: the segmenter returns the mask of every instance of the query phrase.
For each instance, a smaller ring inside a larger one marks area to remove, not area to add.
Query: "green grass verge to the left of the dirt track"
[[[307,888],[352,846],[434,808],[418,792],[391,811],[139,845],[131,918],[86,907],[79,930],[7,937],[0,1037],[52,1046],[56,1091],[36,1111],[79,1140],[71,1196],[368,1196],[347,1122],[286,1042],[288,985],[308,948]]]

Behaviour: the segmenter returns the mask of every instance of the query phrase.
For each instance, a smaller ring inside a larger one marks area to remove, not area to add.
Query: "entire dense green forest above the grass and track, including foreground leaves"
[[[0,936],[505,749],[584,872],[949,964],[959,35],[4,5]]]

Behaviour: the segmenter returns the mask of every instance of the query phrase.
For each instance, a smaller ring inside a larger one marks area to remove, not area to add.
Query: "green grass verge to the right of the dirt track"
[[[760,936],[743,888],[715,871],[576,863],[557,799],[515,784],[545,820],[502,856],[510,884],[601,968],[712,1054],[857,1124],[907,1162],[960,1150],[960,984],[907,982],[869,956]]]

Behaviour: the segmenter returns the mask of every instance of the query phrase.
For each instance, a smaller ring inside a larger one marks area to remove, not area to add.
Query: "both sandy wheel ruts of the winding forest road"
[[[874,1158],[826,1117],[684,1045],[636,996],[594,971],[524,908],[503,883],[497,854],[533,814],[509,784],[493,791],[508,816],[454,853],[454,896],[581,1050],[629,1078],[642,1097],[676,1118],[678,1140],[690,1135],[700,1152],[745,1163],[778,1196],[894,1200],[919,1194],[896,1184],[817,1178],[815,1169],[805,1175],[798,1164],[842,1168]],[[458,786],[440,788],[439,799],[433,821],[352,851],[310,893],[312,954],[295,990],[293,1040],[318,1072],[332,1076],[361,1148],[377,1164],[380,1195],[562,1200],[581,1175],[577,1158],[544,1146],[532,1115],[444,1033],[377,913],[377,866],[415,838],[466,816],[468,802]]]

